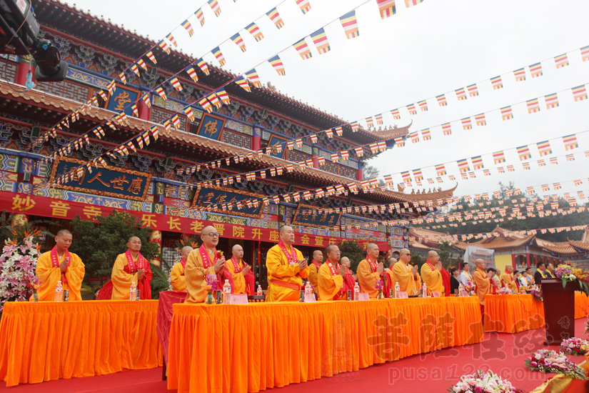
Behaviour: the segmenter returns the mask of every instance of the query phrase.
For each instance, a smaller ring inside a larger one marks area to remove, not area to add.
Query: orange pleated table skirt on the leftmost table
[[[162,364],[158,302],[9,302],[0,323],[6,386]]]

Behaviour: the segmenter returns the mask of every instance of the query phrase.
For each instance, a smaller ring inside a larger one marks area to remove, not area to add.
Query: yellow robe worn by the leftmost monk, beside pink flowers
[[[57,267],[54,267],[54,263],[51,262],[51,252],[55,252],[55,258],[57,258]],[[69,254],[69,267],[65,274],[61,274],[59,265],[64,262],[64,258]],[[70,300],[81,300],[80,288],[82,280],[84,279],[84,263],[80,257],[73,252],[64,252],[61,258],[57,255],[55,248],[51,251],[44,252],[41,257],[37,260],[36,275],[39,277],[39,289],[37,289],[37,295],[39,301],[51,301],[55,299],[55,286],[57,282],[61,280],[61,285],[64,287],[64,291],[69,289]]]

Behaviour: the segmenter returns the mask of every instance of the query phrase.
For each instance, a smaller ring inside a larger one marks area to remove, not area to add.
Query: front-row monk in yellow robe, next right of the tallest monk
[[[355,282],[346,279],[348,268],[338,263],[341,257],[339,247],[329,244],[325,252],[327,262],[319,268],[319,300],[346,300]]]

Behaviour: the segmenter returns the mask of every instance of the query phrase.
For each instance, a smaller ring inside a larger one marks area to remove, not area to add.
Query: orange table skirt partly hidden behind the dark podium
[[[575,292],[575,319],[587,317],[589,300]],[[519,333],[544,327],[544,303],[531,294],[485,296],[485,332]]]

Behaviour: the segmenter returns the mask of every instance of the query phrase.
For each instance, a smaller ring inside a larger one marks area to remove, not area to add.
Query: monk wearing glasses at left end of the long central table
[[[231,272],[227,269],[225,257],[218,252],[216,247],[219,242],[219,234],[215,227],[204,227],[201,232],[203,244],[198,249],[193,249],[188,254],[184,275],[186,277],[186,296],[185,303],[202,303],[206,299],[207,277],[211,281],[216,281],[213,290],[223,289],[225,280],[231,284],[231,293],[235,288]]]

